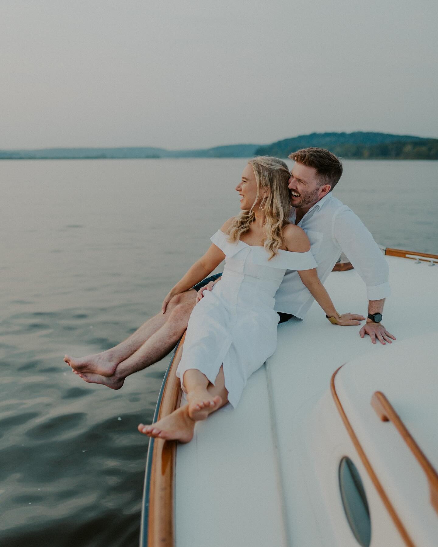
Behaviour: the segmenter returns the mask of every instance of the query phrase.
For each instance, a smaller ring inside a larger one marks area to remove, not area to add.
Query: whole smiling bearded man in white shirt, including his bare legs
[[[388,264],[359,217],[331,193],[342,175],[341,161],[322,148],[298,150],[289,158],[295,161],[289,179],[290,222],[306,232],[320,281],[324,283],[342,252],[347,255],[367,288],[368,318],[359,334],[362,338],[369,335],[373,344],[377,340],[390,344],[395,337],[381,323],[385,298],[390,294]],[[86,382],[119,389],[126,376],[163,359],[175,347],[195,303],[220,276],[206,278],[193,289],[174,296],[165,313],[149,319],[110,350],[80,359],[66,355],[65,362]],[[274,309],[280,323],[292,316],[304,319],[313,300],[298,272],[286,271],[275,294]],[[328,319],[336,323],[335,318]]]

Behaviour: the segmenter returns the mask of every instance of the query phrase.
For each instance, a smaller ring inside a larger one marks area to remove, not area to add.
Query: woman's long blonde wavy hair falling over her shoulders
[[[248,162],[254,171],[257,182],[257,195],[249,211],[241,211],[228,228],[228,240],[238,241],[250,229],[255,219],[253,207],[264,189],[268,190],[263,201],[266,220],[263,225],[262,244],[270,252],[269,260],[275,257],[283,245],[283,229],[289,224],[291,200],[287,181],[291,176],[284,161],[272,156],[257,156]]]

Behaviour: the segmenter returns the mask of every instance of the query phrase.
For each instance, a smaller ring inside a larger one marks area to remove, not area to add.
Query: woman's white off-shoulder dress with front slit
[[[218,230],[211,241],[225,254],[221,281],[204,292],[190,316],[176,375],[197,369],[215,383],[223,365],[228,401],[235,408],[247,379],[276,347],[279,315],[274,295],[286,270],[316,267],[310,251],[278,251],[271,260],[264,247],[230,243]]]

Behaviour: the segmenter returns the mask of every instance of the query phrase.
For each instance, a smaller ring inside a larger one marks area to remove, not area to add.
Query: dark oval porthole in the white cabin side
[[[339,490],[351,531],[362,547],[371,542],[371,519],[368,502],[358,469],[350,458],[339,464]]]

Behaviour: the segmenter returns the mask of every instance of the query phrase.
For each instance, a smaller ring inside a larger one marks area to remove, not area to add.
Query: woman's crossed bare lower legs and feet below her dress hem
[[[195,423],[205,420],[209,414],[228,402],[222,366],[216,376],[215,385],[197,369],[186,370],[183,381],[187,389],[188,405],[182,406],[150,426],[140,423],[140,433],[145,433],[149,437],[188,443],[193,438]]]

